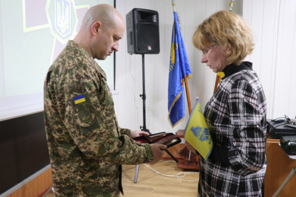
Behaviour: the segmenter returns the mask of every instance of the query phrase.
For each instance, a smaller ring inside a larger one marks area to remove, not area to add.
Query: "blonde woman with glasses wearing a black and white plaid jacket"
[[[266,100],[252,63],[244,61],[254,47],[252,30],[239,15],[219,11],[198,26],[192,40],[201,62],[225,74],[204,110],[214,148],[208,160],[200,159],[198,197],[260,197]],[[198,154],[187,142],[179,154],[186,158],[189,151]]]

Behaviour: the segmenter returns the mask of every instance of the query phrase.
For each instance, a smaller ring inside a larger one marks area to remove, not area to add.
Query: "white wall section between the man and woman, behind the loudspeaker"
[[[170,47],[173,27],[171,0],[117,0],[116,9],[125,19],[133,8],[156,10],[159,13],[160,53],[145,55],[146,78],[146,125],[152,132],[175,132],[184,129],[189,117],[186,104],[185,120],[172,129],[168,122],[168,75]],[[191,106],[200,97],[201,105],[213,95],[216,75],[200,63],[200,52],[194,48],[191,37],[198,24],[214,12],[228,10],[228,0],[175,0],[181,19],[182,35],[191,67],[192,79],[188,79]],[[241,0],[234,3],[233,10],[242,7]],[[241,11],[240,11],[241,12]],[[142,55],[127,53],[126,38],[120,40],[116,53],[116,89],[114,95],[115,113],[119,125],[124,128],[139,129],[143,126],[143,100],[139,96],[142,87]]]

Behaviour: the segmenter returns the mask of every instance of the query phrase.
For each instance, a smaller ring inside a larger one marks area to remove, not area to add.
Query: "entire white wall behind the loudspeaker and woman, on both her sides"
[[[175,0],[181,19],[182,35],[188,55],[192,78],[188,79],[191,106],[200,98],[202,109],[213,95],[216,74],[200,63],[200,52],[191,37],[195,28],[218,10],[228,10],[230,0]],[[296,115],[296,79],[292,73],[296,53],[295,0],[234,0],[233,11],[243,15],[255,34],[255,50],[246,60],[253,62],[263,85],[268,105],[267,118]],[[294,7],[293,7],[294,6]],[[176,132],[184,129],[189,117],[187,104],[185,120],[171,128],[167,116],[167,92],[173,9],[171,0],[117,0],[116,8],[125,19],[133,8],[157,10],[159,13],[160,53],[145,55],[146,124],[152,132]],[[290,24],[290,25],[289,25]],[[287,36],[289,35],[289,37]],[[279,39],[278,39],[279,38]],[[294,49],[294,50],[293,50]],[[285,52],[287,51],[287,53]],[[293,61],[294,60],[294,61]],[[126,38],[120,40],[116,53],[115,113],[119,125],[139,129],[143,125],[142,55],[127,53]],[[293,100],[294,98],[294,100]]]

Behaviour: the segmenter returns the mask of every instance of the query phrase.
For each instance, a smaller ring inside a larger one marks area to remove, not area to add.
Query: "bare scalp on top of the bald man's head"
[[[96,21],[102,23],[104,31],[113,28],[118,22],[124,23],[119,12],[109,4],[98,4],[89,8],[82,19],[81,28],[86,30]]]

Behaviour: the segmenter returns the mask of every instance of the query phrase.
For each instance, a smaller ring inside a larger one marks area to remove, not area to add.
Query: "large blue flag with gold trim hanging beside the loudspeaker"
[[[190,66],[182,38],[177,12],[174,12],[168,90],[168,119],[172,127],[185,117],[184,77],[191,78]]]

